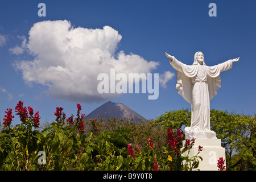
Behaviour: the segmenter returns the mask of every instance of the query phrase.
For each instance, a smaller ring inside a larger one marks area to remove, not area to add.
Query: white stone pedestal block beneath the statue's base
[[[183,140],[183,146],[184,144],[185,140]],[[189,157],[197,154],[199,146],[203,147],[203,151],[198,155],[203,158],[203,161],[199,159],[200,162],[197,169],[201,171],[217,171],[217,160],[222,157],[226,162],[225,148],[221,147],[221,139],[195,139],[195,143],[189,152]],[[183,155],[187,155],[187,152]],[[226,166],[226,163],[224,166]]]

